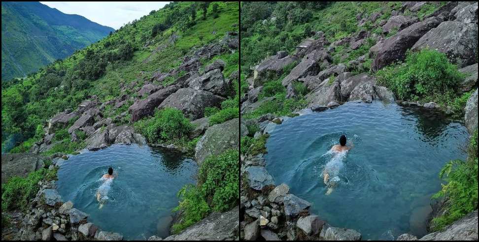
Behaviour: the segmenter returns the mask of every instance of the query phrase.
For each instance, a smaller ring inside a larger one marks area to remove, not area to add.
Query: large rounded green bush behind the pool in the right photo
[[[427,49],[408,52],[405,65],[384,67],[376,76],[381,85],[400,99],[445,93],[464,78],[444,53]]]

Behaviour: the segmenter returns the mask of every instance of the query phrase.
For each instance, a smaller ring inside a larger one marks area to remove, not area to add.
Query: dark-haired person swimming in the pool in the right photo
[[[340,144],[334,145],[329,151],[334,153],[334,156],[326,164],[326,167],[323,170],[323,182],[328,187],[326,195],[331,194],[331,192],[333,192],[333,188],[336,187],[338,181],[340,181],[340,178],[337,176],[337,174],[343,166],[342,160],[345,157],[347,151],[349,151],[353,147],[352,143],[350,144],[350,146],[346,146],[346,141],[346,136],[342,135],[340,137]]]

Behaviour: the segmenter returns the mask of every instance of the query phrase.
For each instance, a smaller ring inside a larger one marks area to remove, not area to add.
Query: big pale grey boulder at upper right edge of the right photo
[[[474,64],[478,57],[478,25],[445,21],[424,34],[412,46],[412,50],[423,48],[445,53],[459,67]]]

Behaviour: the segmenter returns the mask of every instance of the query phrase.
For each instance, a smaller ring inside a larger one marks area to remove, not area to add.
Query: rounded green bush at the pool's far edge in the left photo
[[[134,127],[150,143],[176,143],[186,139],[193,129],[191,122],[175,108],[157,110],[153,117],[137,121]]]

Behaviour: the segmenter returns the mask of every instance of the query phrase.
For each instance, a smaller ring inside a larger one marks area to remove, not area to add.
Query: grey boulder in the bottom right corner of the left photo
[[[204,219],[165,241],[216,241],[231,240],[239,234],[239,206],[228,212],[212,212]]]

